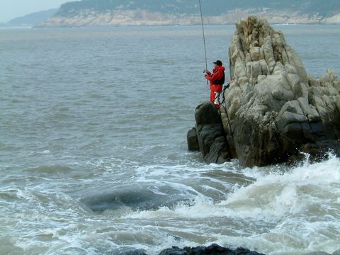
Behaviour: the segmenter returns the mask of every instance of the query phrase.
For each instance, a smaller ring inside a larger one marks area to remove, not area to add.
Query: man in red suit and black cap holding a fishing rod
[[[216,108],[220,108],[220,93],[222,92],[223,84],[225,84],[225,67],[220,60],[214,62],[212,73],[205,70],[205,79],[210,81],[210,102]]]

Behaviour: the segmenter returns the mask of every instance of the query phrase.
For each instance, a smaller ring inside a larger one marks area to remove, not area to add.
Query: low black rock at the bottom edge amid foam
[[[217,244],[212,244],[208,247],[198,246],[195,248],[185,247],[180,249],[179,247],[172,247],[172,249],[166,249],[159,255],[261,255],[256,251],[250,251],[249,249],[237,248],[235,250],[228,249]]]

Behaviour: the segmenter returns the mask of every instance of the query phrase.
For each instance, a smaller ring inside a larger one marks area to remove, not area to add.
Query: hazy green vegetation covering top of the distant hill
[[[204,13],[216,16],[235,8],[272,8],[300,11],[321,16],[333,16],[340,12],[339,0],[202,0]],[[74,16],[81,10],[107,12],[117,9],[142,9],[150,12],[195,14],[199,12],[198,0],[83,0],[63,4],[57,16]]]

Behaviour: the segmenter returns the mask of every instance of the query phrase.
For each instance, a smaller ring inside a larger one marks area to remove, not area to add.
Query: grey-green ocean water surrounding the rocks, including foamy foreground
[[[340,73],[340,26],[276,28],[307,72]],[[206,30],[227,63],[234,26]],[[187,151],[204,68],[199,26],[0,30],[0,254],[340,249],[340,159],[244,169]]]

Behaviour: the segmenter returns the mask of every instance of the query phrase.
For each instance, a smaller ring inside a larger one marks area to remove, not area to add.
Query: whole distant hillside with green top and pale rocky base
[[[240,18],[264,16],[270,23],[340,23],[337,0],[251,1],[203,0],[205,23],[234,23]],[[40,27],[159,26],[200,23],[197,0],[83,0],[63,4]]]

